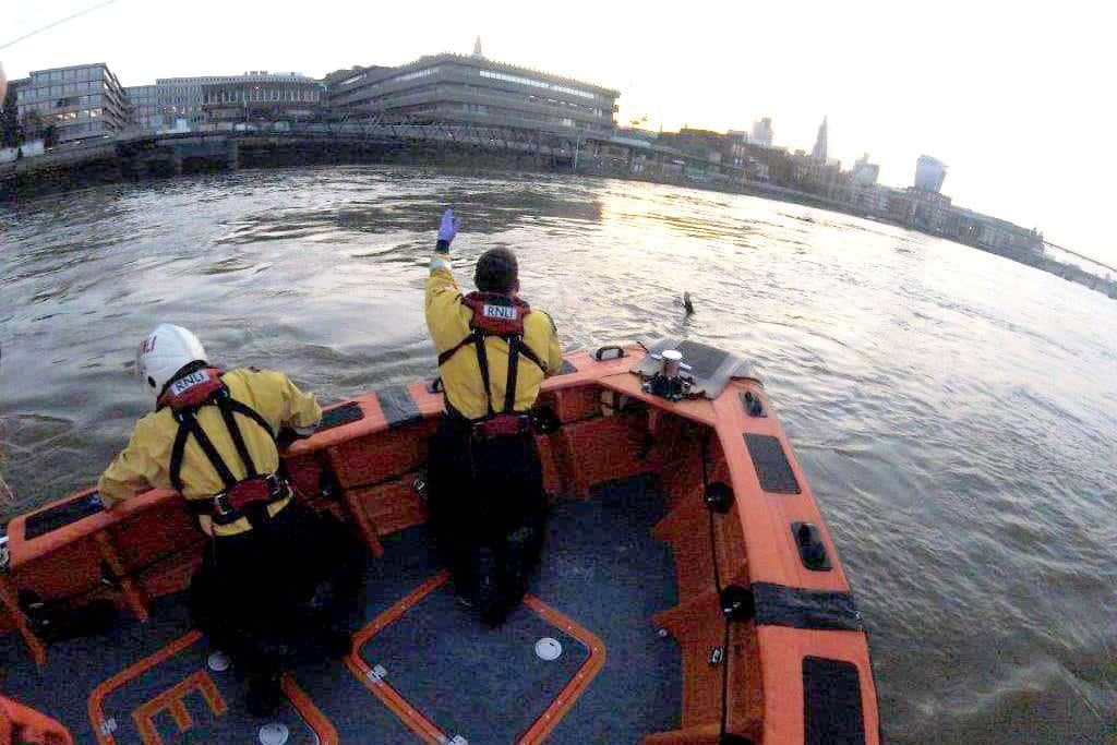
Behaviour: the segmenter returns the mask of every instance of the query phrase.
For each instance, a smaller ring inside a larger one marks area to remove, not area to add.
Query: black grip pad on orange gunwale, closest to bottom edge
[[[856,665],[803,658],[803,732],[806,745],[865,745]]]

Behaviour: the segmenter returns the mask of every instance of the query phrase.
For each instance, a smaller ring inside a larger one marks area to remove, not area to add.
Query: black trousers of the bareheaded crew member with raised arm
[[[458,593],[500,622],[537,569],[546,529],[543,467],[531,432],[479,440],[446,418],[430,442],[430,524]]]

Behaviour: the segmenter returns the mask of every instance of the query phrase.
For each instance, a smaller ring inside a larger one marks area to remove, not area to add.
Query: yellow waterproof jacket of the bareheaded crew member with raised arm
[[[469,333],[472,311],[461,304],[461,290],[454,281],[450,261],[446,254],[436,252],[430,260],[430,277],[427,279],[427,328],[439,354],[461,343]],[[558,334],[555,333],[551,316],[532,309],[524,317],[524,343],[541,361],[546,363],[547,373],[558,372],[562,352]],[[477,353],[470,344],[458,350],[441,366],[442,384],[449,405],[467,419],[479,419],[488,413],[488,401],[500,411],[504,407],[505,389],[508,380],[508,343],[489,336],[485,340],[486,359],[489,370],[489,395],[485,395]],[[534,362],[519,355],[516,370],[515,410],[527,411],[540,395],[540,386],[545,374]]]

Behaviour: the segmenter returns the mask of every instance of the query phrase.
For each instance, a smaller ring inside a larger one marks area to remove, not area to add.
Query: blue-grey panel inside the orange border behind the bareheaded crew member
[[[548,637],[556,660],[536,657]],[[427,719],[470,743],[513,743],[560,696],[589,658],[579,640],[521,606],[497,629],[480,624],[442,585],[360,650],[370,667]]]

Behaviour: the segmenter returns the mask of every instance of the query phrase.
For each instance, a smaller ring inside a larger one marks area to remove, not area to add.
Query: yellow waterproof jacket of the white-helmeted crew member
[[[281,372],[231,370],[221,380],[235,400],[259,413],[276,433],[284,427],[313,427],[322,418],[322,409],[314,395],[303,393]],[[275,441],[251,419],[242,414],[235,416],[257,471],[274,474],[279,468],[279,451]],[[238,479],[247,477],[218,408],[201,407],[197,419],[233,476]],[[153,487],[173,488],[170,472],[171,448],[178,431],[179,423],[170,408],[160,409],[136,422],[127,447],[116,456],[97,483],[101,500],[106,508],[111,509],[120,502]],[[181,478],[182,496],[187,499],[207,499],[225,488],[217,470],[193,437],[187,439]],[[277,502],[269,509],[274,515],[286,505],[286,500]],[[202,515],[200,520],[202,529],[209,533],[209,517]],[[244,518],[229,525],[212,527],[218,535],[232,535],[250,529],[248,520]]]

